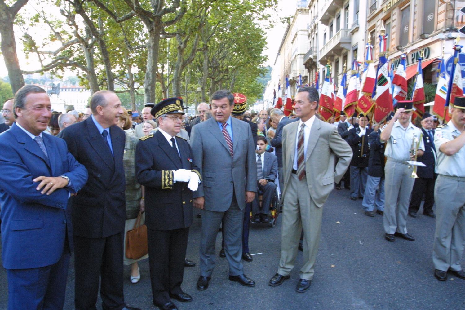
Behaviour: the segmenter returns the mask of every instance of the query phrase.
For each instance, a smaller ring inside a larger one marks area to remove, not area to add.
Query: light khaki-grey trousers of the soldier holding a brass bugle
[[[385,208],[383,216],[386,234],[407,233],[407,213],[414,178],[410,178],[412,168],[408,164],[388,158],[385,171]]]

